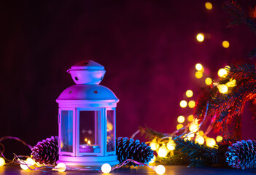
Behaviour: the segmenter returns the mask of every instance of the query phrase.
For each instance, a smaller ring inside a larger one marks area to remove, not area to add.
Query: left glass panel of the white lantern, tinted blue
[[[61,111],[61,152],[73,152],[73,111]]]

